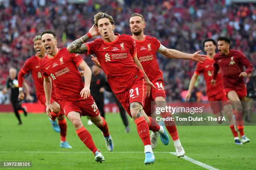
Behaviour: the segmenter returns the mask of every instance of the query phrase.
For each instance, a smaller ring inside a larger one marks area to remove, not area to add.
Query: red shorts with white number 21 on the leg
[[[132,102],[140,102],[141,105],[144,107],[145,102],[145,95],[146,95],[146,83],[144,78],[139,80],[134,80],[131,87],[124,91],[115,94],[118,101],[121,103],[123,108],[127,111],[127,113],[131,116],[130,111],[130,104]]]

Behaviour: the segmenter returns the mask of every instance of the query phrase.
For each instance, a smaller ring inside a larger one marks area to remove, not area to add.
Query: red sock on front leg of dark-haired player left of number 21
[[[76,132],[80,140],[82,140],[82,142],[84,143],[84,145],[86,145],[87,148],[89,148],[93,152],[93,154],[95,154],[95,152],[98,149],[94,145],[94,142],[92,140],[92,136],[90,135],[90,133],[84,127],[77,129]]]

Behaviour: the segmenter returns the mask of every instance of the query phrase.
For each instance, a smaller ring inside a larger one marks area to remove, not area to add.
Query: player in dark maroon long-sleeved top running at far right
[[[217,84],[217,75],[220,69],[223,77],[224,91],[235,107],[235,118],[238,131],[241,137],[241,143],[248,143],[250,139],[243,132],[243,108],[246,108],[246,85],[244,77],[252,72],[253,66],[246,56],[238,50],[230,49],[230,40],[228,37],[218,38],[219,52],[214,56],[214,73],[212,85]],[[246,70],[243,70],[243,66]],[[242,101],[242,104],[241,102]]]

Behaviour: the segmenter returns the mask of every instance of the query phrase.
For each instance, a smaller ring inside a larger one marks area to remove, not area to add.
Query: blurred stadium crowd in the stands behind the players
[[[256,65],[256,5],[253,3],[230,4],[228,0],[85,0],[84,3],[70,4],[66,0],[0,0],[0,90],[5,86],[8,69],[15,67],[19,70],[26,59],[34,55],[35,35],[52,29],[57,32],[58,47],[67,47],[87,33],[92,26],[93,15],[98,11],[113,15],[115,32],[130,35],[129,17],[132,13],[141,13],[146,19],[146,35],[157,37],[164,46],[183,52],[203,50],[205,38],[230,37],[231,47],[241,50],[253,66]],[[88,65],[93,65],[90,56],[81,56]],[[166,59],[160,53],[158,60],[164,72],[166,100],[182,100],[196,63]],[[26,80],[33,87],[31,75]],[[197,93],[192,100],[207,100],[202,77],[196,87]],[[33,88],[31,93],[35,93]]]

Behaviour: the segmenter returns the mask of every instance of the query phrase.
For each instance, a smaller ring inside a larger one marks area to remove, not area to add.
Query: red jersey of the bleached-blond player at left
[[[31,72],[33,77],[35,87],[36,87],[36,95],[44,95],[44,78],[42,76],[42,72],[39,66],[40,58],[37,56],[32,56],[26,60],[21,71],[25,74]],[[51,92],[51,96],[55,97],[54,87]]]

